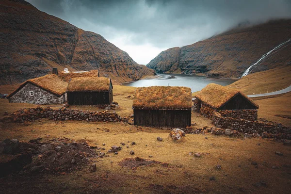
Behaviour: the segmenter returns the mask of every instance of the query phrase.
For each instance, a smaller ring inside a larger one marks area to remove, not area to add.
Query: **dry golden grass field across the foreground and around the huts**
[[[113,99],[120,108],[113,111],[122,116],[131,115],[134,91],[134,87],[114,85]],[[290,94],[256,100],[260,106],[259,117],[284,121],[282,123],[291,126],[289,118],[275,116],[290,114],[290,107],[286,106],[289,99]],[[8,103],[7,99],[0,99],[0,115],[5,111],[36,106]],[[93,106],[70,108],[99,110]],[[192,123],[196,123],[197,127],[212,126],[209,119],[198,113],[192,114]],[[157,141],[158,136],[162,137],[162,142]],[[55,122],[40,119],[25,124],[0,123],[1,141],[6,138],[29,141],[38,137],[43,138],[42,141],[58,137],[77,142],[88,141],[105,148],[105,153],[113,145],[121,146],[120,143],[125,143],[125,146],[122,146],[118,155],[107,153],[109,157],[93,159],[97,163],[97,171],[93,173],[89,173],[88,166],[84,166],[62,175],[13,175],[0,178],[0,188],[4,193],[287,194],[291,188],[291,147],[283,146],[273,139],[230,138],[207,133],[186,134],[181,141],[173,142],[169,138],[169,130],[135,127],[122,122]],[[131,142],[136,145],[131,146]],[[105,146],[102,146],[103,143]],[[129,154],[131,150],[135,152],[134,155]],[[283,156],[275,155],[275,151],[283,153]],[[190,152],[200,152],[201,156],[189,155]],[[168,165],[152,164],[136,169],[119,165],[124,159],[134,157],[166,162]],[[218,164],[222,166],[221,169],[215,168]]]

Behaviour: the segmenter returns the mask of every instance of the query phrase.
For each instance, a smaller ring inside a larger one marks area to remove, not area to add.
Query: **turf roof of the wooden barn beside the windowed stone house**
[[[73,78],[68,85],[68,92],[105,92],[109,91],[111,80],[103,77]]]

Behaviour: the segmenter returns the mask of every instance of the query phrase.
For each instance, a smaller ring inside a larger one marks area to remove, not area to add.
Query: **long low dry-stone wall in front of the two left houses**
[[[104,122],[127,122],[127,118],[120,117],[115,112],[109,111],[82,111],[69,108],[51,109],[49,107],[21,109],[10,113],[6,119],[22,123],[24,121],[34,121],[39,118],[57,120],[77,120],[77,121],[104,121]]]

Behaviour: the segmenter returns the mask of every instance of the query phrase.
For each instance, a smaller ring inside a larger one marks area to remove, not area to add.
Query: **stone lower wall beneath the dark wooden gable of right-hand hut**
[[[258,110],[221,110],[217,111],[224,117],[245,119],[248,121],[258,120]]]

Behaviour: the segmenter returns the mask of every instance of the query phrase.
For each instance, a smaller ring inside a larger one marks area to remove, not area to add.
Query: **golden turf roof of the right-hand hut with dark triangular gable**
[[[213,108],[220,108],[232,97],[240,93],[243,97],[249,100],[254,106],[259,108],[259,106],[253,102],[249,97],[242,94],[239,90],[234,88],[229,88],[227,86],[218,85],[215,83],[208,84],[200,92],[198,92],[195,97],[206,103]]]

